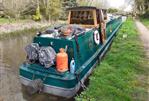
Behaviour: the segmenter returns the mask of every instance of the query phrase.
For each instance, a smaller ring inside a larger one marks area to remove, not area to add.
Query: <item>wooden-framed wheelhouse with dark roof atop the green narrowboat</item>
[[[82,27],[98,27],[107,19],[106,9],[96,7],[74,7],[69,8],[68,23],[77,24]]]

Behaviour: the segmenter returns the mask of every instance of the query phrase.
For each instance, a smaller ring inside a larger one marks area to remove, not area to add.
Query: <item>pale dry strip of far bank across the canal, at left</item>
[[[26,22],[26,23],[11,23],[11,24],[1,24],[0,34],[9,33],[18,30],[30,29],[30,28],[41,28],[49,25],[49,22]]]

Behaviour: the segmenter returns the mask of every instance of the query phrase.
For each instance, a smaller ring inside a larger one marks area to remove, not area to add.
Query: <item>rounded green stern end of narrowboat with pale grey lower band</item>
[[[43,81],[42,91],[52,95],[62,96],[66,98],[73,97],[80,88],[80,83],[77,82],[75,75],[65,73],[46,73],[49,71],[39,65],[22,64],[20,66],[20,82],[29,86],[33,80],[40,79]],[[36,71],[33,68],[40,68],[44,72]]]

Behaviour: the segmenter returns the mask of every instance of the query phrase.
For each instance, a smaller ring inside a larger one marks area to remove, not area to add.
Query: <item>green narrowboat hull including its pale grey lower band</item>
[[[43,92],[67,98],[74,96],[80,89],[81,84],[84,83],[96,64],[107,51],[121,24],[121,18],[114,19],[107,23],[107,39],[104,44],[92,45],[88,43],[89,45],[85,45],[87,42],[92,43],[93,38],[90,37],[93,37],[93,30],[89,31],[84,36],[78,37],[80,53],[78,53],[75,41],[61,40],[61,42],[59,42],[58,40],[55,41],[49,38],[34,38],[35,43],[40,43],[44,46],[48,46],[47,43],[50,43],[51,40],[54,44],[59,44],[59,47],[65,47],[67,44],[69,46],[68,53],[72,55],[71,57],[75,58],[77,70],[75,74],[72,74],[69,71],[59,73],[56,71],[55,67],[46,69],[39,64],[22,64],[20,66],[21,83],[27,86],[32,80],[41,79],[44,82]],[[82,44],[83,41],[84,44]],[[53,47],[56,51],[58,51],[57,47]],[[90,48],[90,50],[84,50],[87,48]]]

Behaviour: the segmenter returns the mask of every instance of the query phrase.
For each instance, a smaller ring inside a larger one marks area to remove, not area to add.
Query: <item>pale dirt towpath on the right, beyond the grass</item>
[[[144,49],[147,55],[149,62],[149,29],[145,27],[140,21],[136,21],[136,26],[140,32],[140,38],[143,42]],[[148,84],[149,84],[149,75],[148,75]],[[148,101],[149,101],[149,86],[148,86]]]

